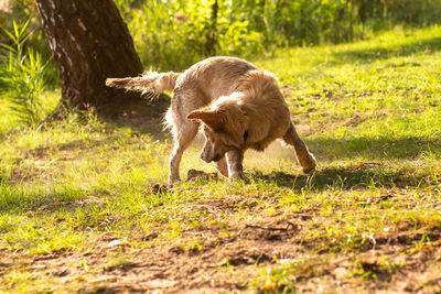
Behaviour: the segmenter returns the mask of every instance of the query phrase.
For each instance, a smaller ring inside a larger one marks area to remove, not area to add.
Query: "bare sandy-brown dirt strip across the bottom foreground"
[[[420,248],[416,248],[420,235],[385,235],[365,251],[330,258],[314,253],[318,240],[295,238],[312,229],[309,221],[314,217],[312,211],[293,214],[288,221],[287,216],[255,214],[245,221],[232,221],[226,230],[214,225],[183,231],[179,241],[171,243],[157,240],[161,232],[158,228],[141,238],[148,242],[143,248],[108,235],[95,240],[87,252],[58,251],[35,257],[1,252],[0,277],[26,269],[50,277],[52,290],[78,293],[249,293],[250,288],[266,287],[283,291],[288,282],[270,287],[272,284],[259,280],[265,275],[262,269],[271,266],[287,269],[289,283],[299,293],[318,293],[323,287],[338,293],[441,291],[440,235],[431,236],[432,241]]]

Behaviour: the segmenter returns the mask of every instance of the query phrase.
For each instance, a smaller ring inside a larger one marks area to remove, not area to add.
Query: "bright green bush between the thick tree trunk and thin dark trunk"
[[[176,70],[209,55],[211,4],[183,0],[141,2],[117,4],[144,65]],[[130,8],[133,9],[128,12]]]

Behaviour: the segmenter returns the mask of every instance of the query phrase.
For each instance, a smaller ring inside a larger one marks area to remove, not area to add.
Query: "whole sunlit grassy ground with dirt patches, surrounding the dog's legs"
[[[251,61],[319,166],[276,143],[247,183],[163,188],[166,98],[37,130],[0,100],[0,292],[441,292],[440,50],[433,26]],[[182,178],[214,172],[200,149]]]

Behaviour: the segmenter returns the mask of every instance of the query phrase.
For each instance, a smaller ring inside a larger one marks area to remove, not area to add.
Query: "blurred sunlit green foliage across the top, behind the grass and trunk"
[[[335,44],[395,25],[439,23],[441,0],[114,0],[144,67],[178,70],[209,55],[249,57],[276,47]],[[31,20],[29,45],[50,55],[35,2],[12,0],[0,25]],[[0,40],[8,37],[0,33]],[[51,84],[56,85],[56,72]]]

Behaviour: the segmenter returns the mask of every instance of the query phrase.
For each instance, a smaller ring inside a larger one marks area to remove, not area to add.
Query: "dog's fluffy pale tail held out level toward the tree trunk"
[[[106,86],[126,90],[141,91],[154,98],[163,91],[171,91],[176,85],[178,73],[154,73],[148,72],[139,77],[108,78]]]

